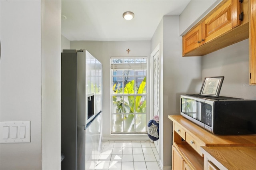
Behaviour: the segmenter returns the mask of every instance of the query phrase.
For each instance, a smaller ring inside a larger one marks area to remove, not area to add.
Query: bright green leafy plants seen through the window
[[[146,132],[146,96],[140,95],[146,94],[146,77],[139,88],[134,87],[134,80],[126,83],[124,89],[116,85],[113,85],[114,93],[123,95],[112,96],[112,132]]]

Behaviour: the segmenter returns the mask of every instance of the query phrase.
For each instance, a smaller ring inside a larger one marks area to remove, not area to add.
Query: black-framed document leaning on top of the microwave
[[[224,76],[220,77],[204,77],[199,95],[219,97]]]

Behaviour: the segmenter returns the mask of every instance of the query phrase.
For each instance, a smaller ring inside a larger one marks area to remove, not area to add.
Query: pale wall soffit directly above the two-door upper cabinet
[[[191,0],[180,14],[180,35],[184,35],[222,0]]]

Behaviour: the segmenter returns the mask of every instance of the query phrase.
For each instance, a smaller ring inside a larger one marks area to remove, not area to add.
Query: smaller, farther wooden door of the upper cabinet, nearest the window
[[[202,45],[202,24],[198,24],[198,26],[182,37],[183,55],[200,45]]]

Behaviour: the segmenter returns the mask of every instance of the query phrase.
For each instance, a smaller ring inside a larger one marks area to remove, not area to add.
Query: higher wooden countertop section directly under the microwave
[[[181,115],[169,115],[174,123],[180,124],[187,132],[196,134],[196,137],[206,146],[256,146],[256,134],[248,135],[219,135],[196,125]]]

